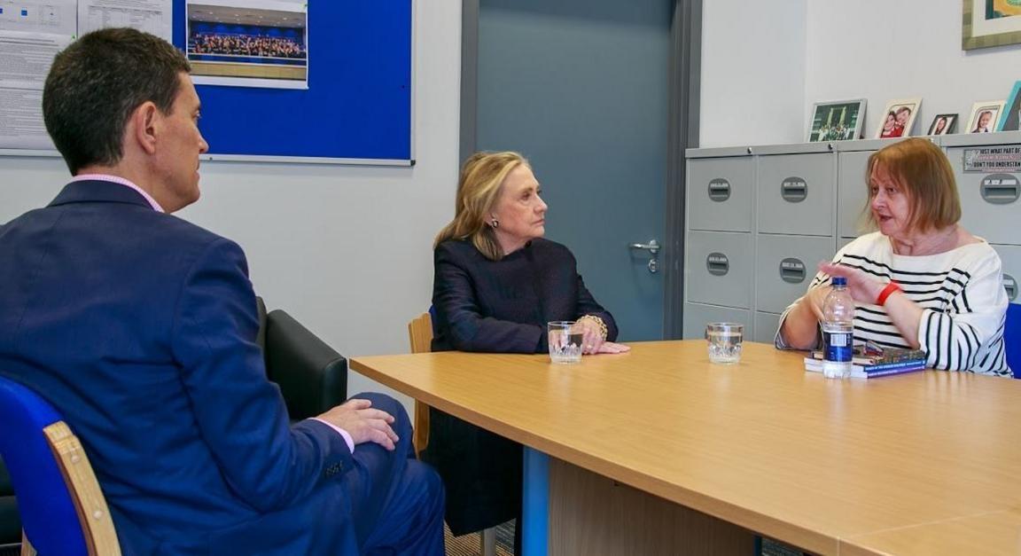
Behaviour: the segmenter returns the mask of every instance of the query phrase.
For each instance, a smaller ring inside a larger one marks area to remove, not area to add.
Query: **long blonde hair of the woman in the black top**
[[[448,239],[471,239],[486,259],[502,259],[503,249],[490,226],[490,215],[500,196],[503,180],[521,165],[529,166],[524,156],[513,151],[476,152],[469,156],[457,179],[453,220],[436,234],[433,248]]]

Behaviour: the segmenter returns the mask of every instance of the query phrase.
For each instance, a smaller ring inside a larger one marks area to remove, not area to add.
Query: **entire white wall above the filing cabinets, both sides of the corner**
[[[707,1],[700,146],[805,141],[814,102],[866,98],[872,137],[891,99],[922,97],[913,135],[937,113],[966,120],[1007,98],[1021,46],[961,50],[957,0]],[[959,131],[967,123],[959,124]]]

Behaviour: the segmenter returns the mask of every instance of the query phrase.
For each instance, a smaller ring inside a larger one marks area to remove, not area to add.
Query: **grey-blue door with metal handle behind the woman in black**
[[[629,244],[665,240],[674,2],[478,6],[476,148],[529,157],[549,204],[546,237],[575,253],[621,339],[662,338],[663,269],[650,273],[649,252]]]

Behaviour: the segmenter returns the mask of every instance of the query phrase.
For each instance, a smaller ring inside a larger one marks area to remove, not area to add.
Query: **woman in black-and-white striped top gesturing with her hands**
[[[819,266],[809,291],[780,318],[777,348],[818,346],[830,277],[845,276],[856,341],[920,348],[933,369],[1010,376],[1000,257],[958,225],[961,201],[942,150],[908,139],[873,153],[866,176],[870,223],[879,231]]]

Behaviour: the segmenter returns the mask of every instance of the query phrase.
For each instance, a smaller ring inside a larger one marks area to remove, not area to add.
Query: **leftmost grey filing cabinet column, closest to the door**
[[[708,322],[751,332],[755,158],[747,147],[688,149],[683,337]]]

